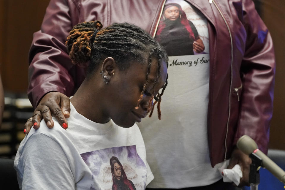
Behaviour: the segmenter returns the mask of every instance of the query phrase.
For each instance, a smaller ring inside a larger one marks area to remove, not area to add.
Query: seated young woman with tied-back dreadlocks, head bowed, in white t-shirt
[[[113,156],[132,189],[144,189],[153,175],[135,122],[153,111],[153,99],[161,115],[165,50],[137,26],[115,23],[102,29],[99,21],[74,26],[66,46],[72,63],[85,66],[87,76],[70,99],[69,128],[54,119],[52,129],[31,129],[21,142],[14,164],[20,189],[110,189]]]

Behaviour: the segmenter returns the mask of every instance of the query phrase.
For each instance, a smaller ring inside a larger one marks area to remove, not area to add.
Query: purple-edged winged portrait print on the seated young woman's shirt
[[[136,145],[80,154],[102,190],[145,189],[147,169]],[[91,186],[91,189],[94,189]]]

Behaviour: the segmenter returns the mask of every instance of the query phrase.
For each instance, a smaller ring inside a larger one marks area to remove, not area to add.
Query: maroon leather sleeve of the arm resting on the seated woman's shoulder
[[[32,105],[50,91],[70,96],[74,91],[75,66],[66,51],[65,41],[72,29],[70,10],[78,11],[68,1],[51,0],[41,30],[34,33],[29,52],[28,96]]]

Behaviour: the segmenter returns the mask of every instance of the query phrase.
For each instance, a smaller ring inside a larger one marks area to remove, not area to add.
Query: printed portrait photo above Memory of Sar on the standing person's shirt
[[[155,38],[166,47],[168,56],[209,53],[206,19],[183,0],[166,1]]]

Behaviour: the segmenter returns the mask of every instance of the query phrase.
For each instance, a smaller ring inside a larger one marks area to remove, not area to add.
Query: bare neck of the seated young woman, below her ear
[[[104,113],[102,89],[91,79],[83,81],[70,101],[79,114],[91,121],[104,124],[110,120]]]

